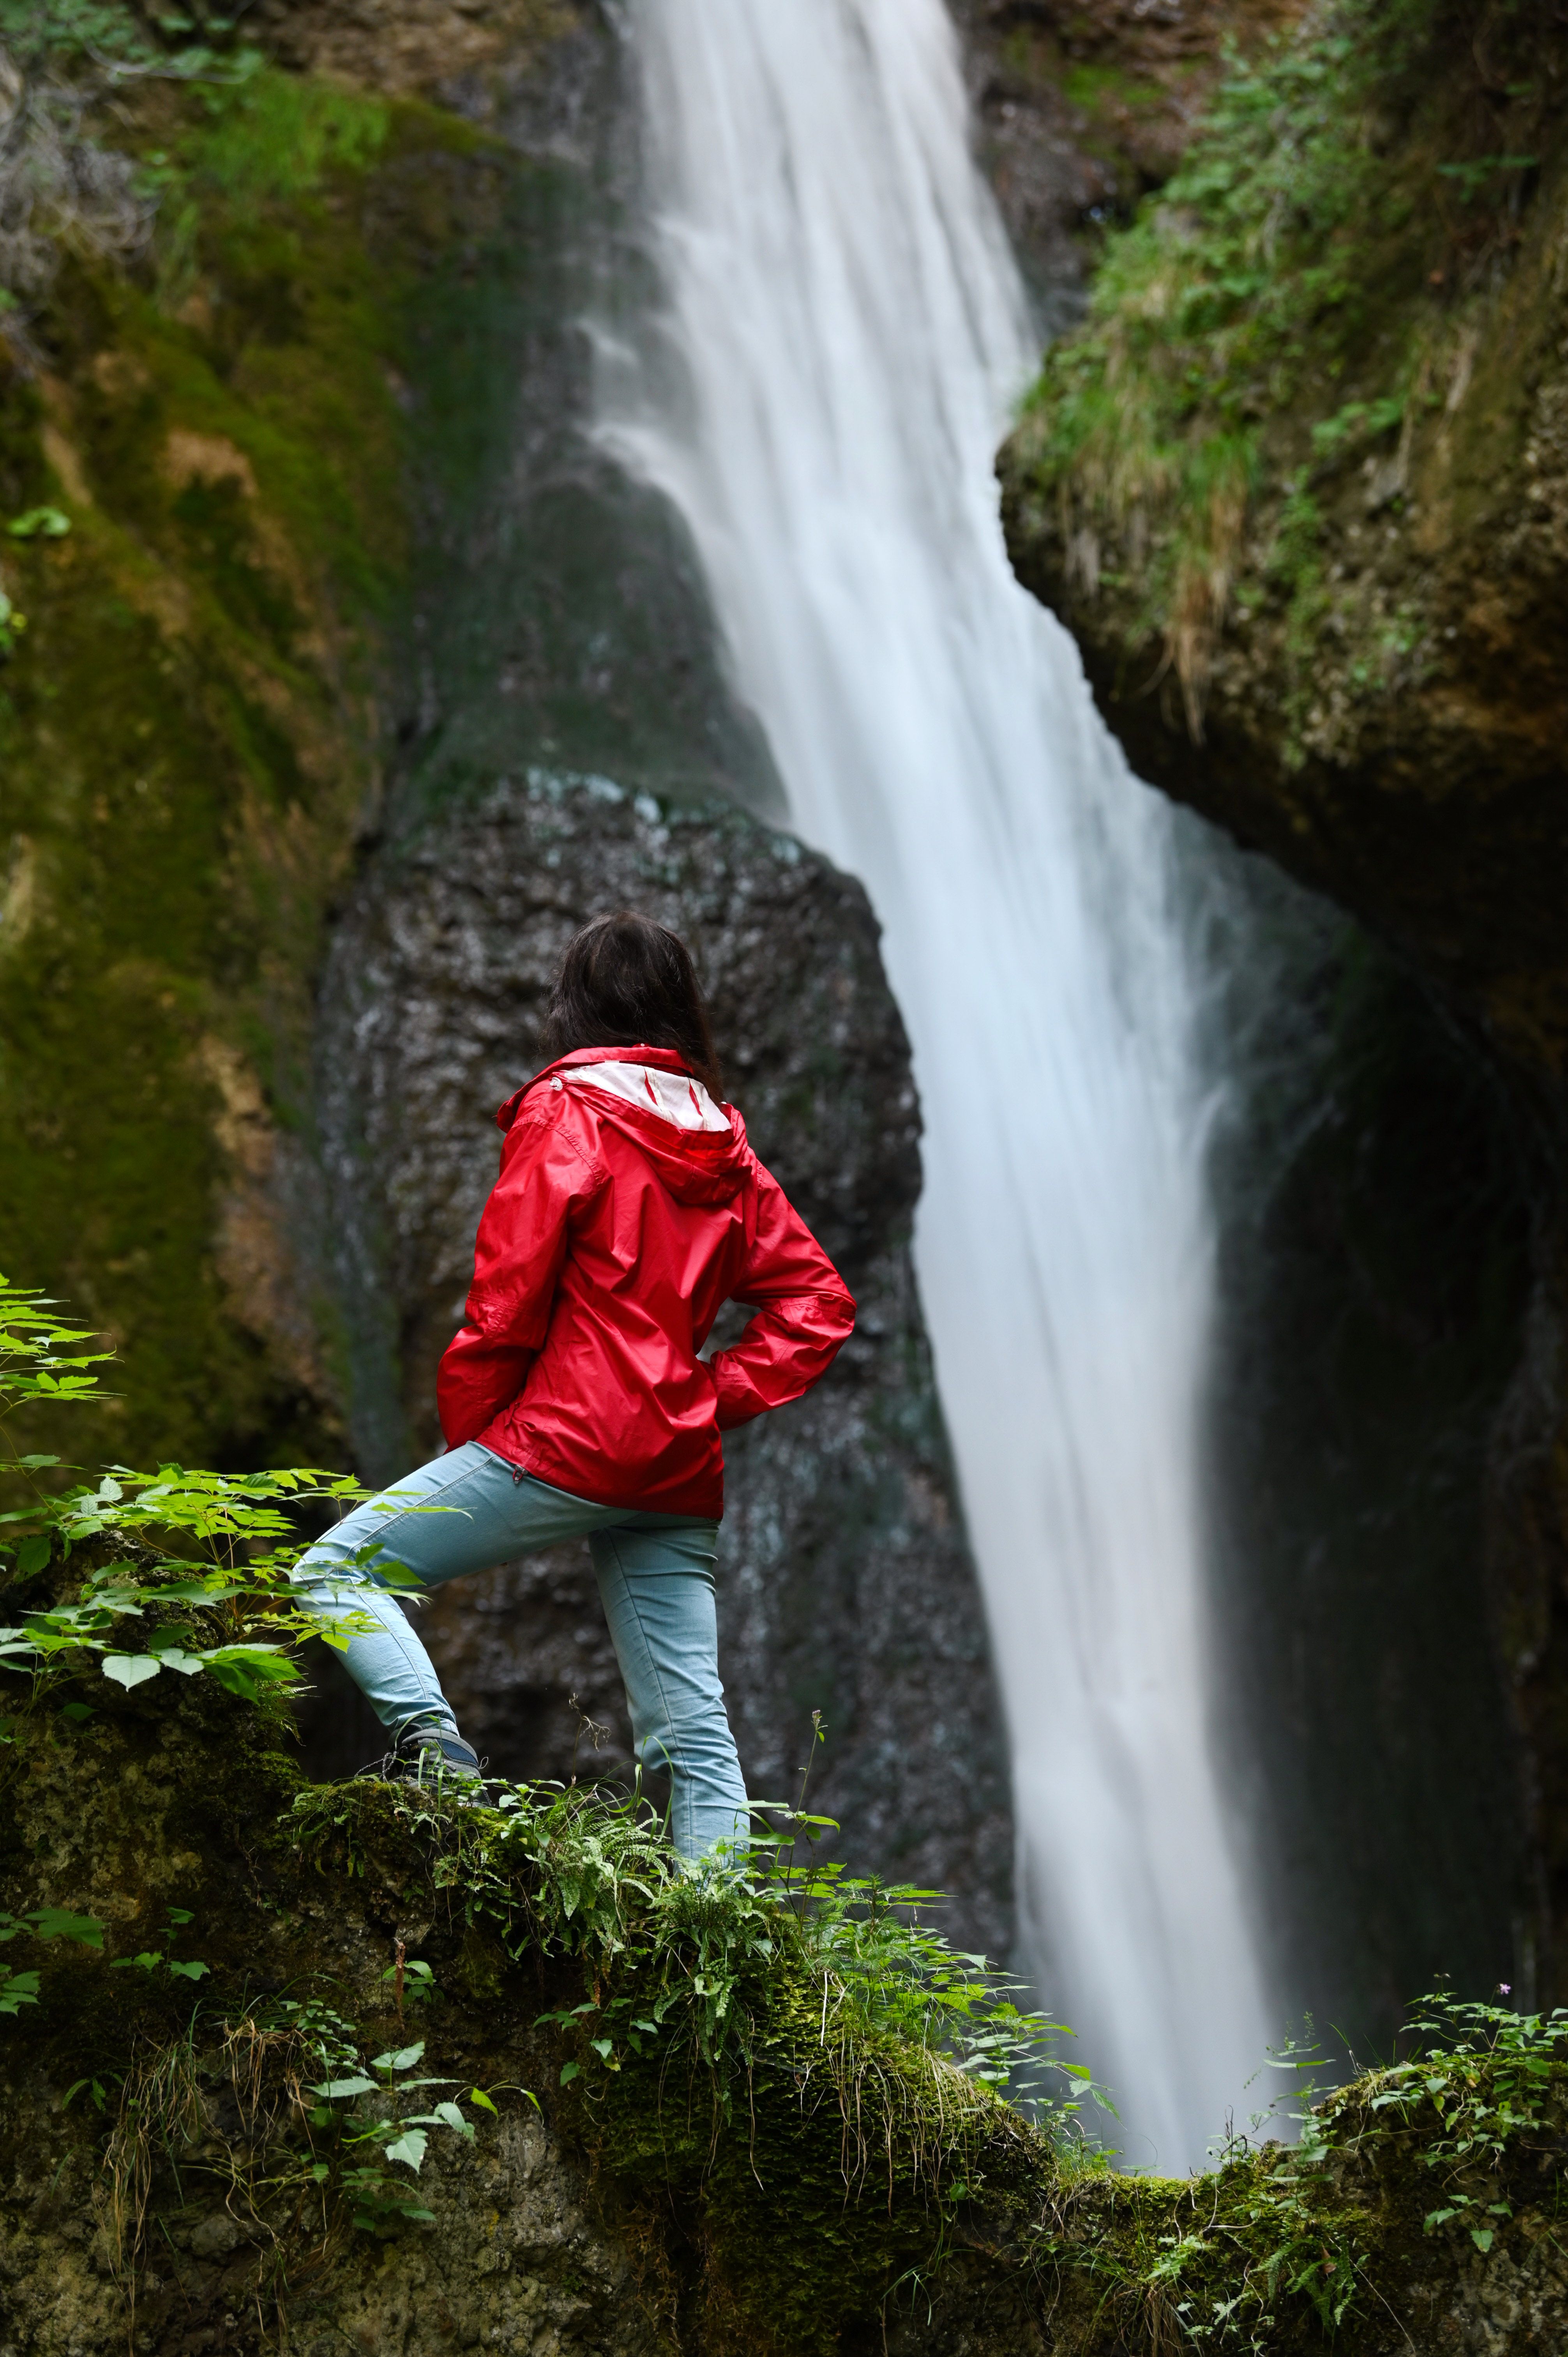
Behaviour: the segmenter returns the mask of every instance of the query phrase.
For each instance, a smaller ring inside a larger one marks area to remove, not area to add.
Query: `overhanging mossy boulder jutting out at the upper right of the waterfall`
[[[997,469],[1139,775],[1559,1098],[1566,73],[1511,0],[1323,0],[1233,59]]]

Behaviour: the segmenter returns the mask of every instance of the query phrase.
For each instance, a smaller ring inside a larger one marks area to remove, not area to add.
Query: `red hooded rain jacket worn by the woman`
[[[726,1131],[679,1129],[597,1089],[594,1063],[686,1072],[670,1049],[578,1049],[500,1108],[441,1431],[601,1506],[717,1520],[719,1433],[809,1391],[856,1306],[731,1105]],[[731,1299],[757,1315],[703,1362]]]

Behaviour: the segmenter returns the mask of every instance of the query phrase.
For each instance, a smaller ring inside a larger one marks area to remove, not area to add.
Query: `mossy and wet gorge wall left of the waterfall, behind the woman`
[[[97,61],[45,14],[5,85],[31,276],[0,504],[68,530],[0,556],[28,625],[0,672],[0,1254],[120,1353],[87,1461],[396,1473],[434,1440],[547,964],[606,896],[670,912],[759,1150],[863,1299],[832,1386],[731,1450],[747,1772],[797,1789],[821,1709],[856,1862],[953,1888],[1004,1952],[875,924],[745,818],[778,790],[696,559],[587,434],[582,321],[641,266],[615,35],[545,5],[264,24],[271,61],[186,75],[132,12]],[[582,1574],[509,1567],[431,1619],[514,1772],[571,1772],[573,1695],[625,1763]],[[311,1758],[351,1772],[380,1742],[332,1676]]]

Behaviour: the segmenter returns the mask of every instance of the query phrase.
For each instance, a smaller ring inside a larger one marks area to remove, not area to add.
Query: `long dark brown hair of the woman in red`
[[[686,943],[630,907],[594,917],[566,943],[542,1047],[549,1063],[575,1047],[670,1047],[714,1101],[724,1094]]]

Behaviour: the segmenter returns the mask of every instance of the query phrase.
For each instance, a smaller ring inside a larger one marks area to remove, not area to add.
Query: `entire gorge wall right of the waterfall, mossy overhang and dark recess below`
[[[1563,1994],[1568,1824],[1566,64],[1556,14],[1507,5],[1327,5],[1252,47],[1111,236],[1000,464],[1014,563],[1139,773],[1358,919],[1236,863],[1243,898],[1264,879],[1257,978],[1283,955],[1297,983],[1273,1047],[1228,1035],[1217,1174],[1250,1171],[1271,1273],[1243,1270],[1243,1219],[1217,1450],[1240,1553],[1287,1563],[1294,1593],[1261,1622],[1257,1586],[1226,1598],[1269,1664],[1276,1789],[1339,1810],[1361,1855],[1320,1888],[1353,1914],[1372,1857],[1401,1888],[1398,1850],[1457,1895],[1460,1855],[1490,1855],[1490,1933],[1467,1940],[1460,1904],[1427,1959],[1455,1970],[1469,1945],[1476,1985],[1490,1954],[1542,2001]],[[1471,1631],[1467,1692],[1443,1626]],[[1455,1747],[1424,1791],[1415,1690],[1422,1742]],[[1386,1732],[1363,1758],[1377,1813],[1332,1798],[1330,1692]],[[1415,1886],[1398,1904],[1415,1921]]]

